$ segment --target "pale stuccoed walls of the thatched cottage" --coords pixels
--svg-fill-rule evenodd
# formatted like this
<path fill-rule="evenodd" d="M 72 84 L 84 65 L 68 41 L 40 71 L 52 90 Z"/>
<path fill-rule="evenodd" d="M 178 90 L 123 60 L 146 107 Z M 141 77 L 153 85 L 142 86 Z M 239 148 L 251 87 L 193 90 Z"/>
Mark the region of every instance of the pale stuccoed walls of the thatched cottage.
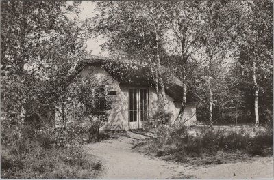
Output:
<path fill-rule="evenodd" d="M 113 108 L 109 110 L 108 122 L 101 127 L 103 130 L 129 130 L 129 86 L 119 85 L 117 80 L 110 77 L 110 74 L 99 67 L 86 67 L 82 72 L 83 76 L 96 76 L 98 80 L 110 78 L 109 91 L 116 91 L 112 95 Z M 180 104 L 174 103 L 173 98 L 166 95 L 168 104 L 165 106 L 166 112 L 171 112 L 171 122 L 175 121 L 179 114 Z M 153 117 L 157 110 L 157 93 L 155 88 L 149 87 L 149 117 Z M 185 125 L 195 125 L 196 122 L 195 104 L 187 104 L 183 119 L 189 119 Z M 57 112 L 55 115 L 56 122 L 60 121 L 62 115 Z M 71 119 L 72 120 L 72 119 Z"/>

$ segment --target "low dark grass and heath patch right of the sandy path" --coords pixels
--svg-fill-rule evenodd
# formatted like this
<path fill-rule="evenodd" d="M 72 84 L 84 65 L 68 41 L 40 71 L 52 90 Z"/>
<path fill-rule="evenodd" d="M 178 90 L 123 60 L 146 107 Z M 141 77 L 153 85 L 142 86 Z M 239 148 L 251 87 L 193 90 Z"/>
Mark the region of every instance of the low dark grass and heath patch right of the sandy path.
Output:
<path fill-rule="evenodd" d="M 192 136 L 186 127 L 165 129 L 157 138 L 140 142 L 134 149 L 173 162 L 224 164 L 273 155 L 273 130 L 258 131 L 255 136 L 244 131 L 225 133 L 218 130 Z"/>

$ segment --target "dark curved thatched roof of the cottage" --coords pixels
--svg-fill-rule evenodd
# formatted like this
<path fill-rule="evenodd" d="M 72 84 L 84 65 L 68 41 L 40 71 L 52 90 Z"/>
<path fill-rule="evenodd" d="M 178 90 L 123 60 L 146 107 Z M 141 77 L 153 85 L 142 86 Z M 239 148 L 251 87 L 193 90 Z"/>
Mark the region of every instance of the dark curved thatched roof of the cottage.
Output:
<path fill-rule="evenodd" d="M 115 80 L 122 85 L 149 86 L 155 87 L 155 82 L 148 65 L 132 63 L 131 61 L 115 61 L 105 57 L 92 56 L 77 64 L 77 72 L 88 66 L 103 68 Z M 175 102 L 182 102 L 183 82 L 175 76 L 164 78 L 166 94 L 173 98 Z M 194 102 L 192 95 L 187 94 L 187 101 Z"/>

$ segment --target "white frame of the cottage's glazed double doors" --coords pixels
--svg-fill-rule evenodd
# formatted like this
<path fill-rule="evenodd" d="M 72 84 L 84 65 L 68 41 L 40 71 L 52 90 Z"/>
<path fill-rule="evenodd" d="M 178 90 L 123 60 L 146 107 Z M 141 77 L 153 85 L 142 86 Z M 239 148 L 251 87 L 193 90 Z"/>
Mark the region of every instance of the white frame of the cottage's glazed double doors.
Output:
<path fill-rule="evenodd" d="M 137 123 L 138 123 L 138 129 L 142 128 L 142 121 L 140 121 L 140 89 L 146 89 L 147 90 L 147 117 L 149 116 L 149 87 L 144 87 L 144 86 L 131 86 L 128 88 L 128 94 L 129 94 L 129 89 L 137 89 L 137 97 L 136 97 L 136 103 L 137 103 Z M 130 127 L 130 102 L 129 102 L 129 95 L 128 95 L 128 125 L 129 125 L 129 130 L 134 129 Z"/>

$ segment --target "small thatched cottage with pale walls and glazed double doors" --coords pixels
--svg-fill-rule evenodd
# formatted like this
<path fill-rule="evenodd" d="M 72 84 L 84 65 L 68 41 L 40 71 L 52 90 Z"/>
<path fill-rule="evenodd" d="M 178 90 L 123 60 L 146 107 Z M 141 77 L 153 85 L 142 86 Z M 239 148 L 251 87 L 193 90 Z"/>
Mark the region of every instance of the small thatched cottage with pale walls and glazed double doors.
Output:
<path fill-rule="evenodd" d="M 92 56 L 80 61 L 76 67 L 82 76 L 96 76 L 98 80 L 110 78 L 108 95 L 112 96 L 112 109 L 108 110 L 108 121 L 103 130 L 131 130 L 142 128 L 147 118 L 157 112 L 158 96 L 151 71 L 147 65 L 113 61 L 103 57 Z M 170 112 L 171 122 L 179 115 L 182 100 L 182 82 L 175 76 L 164 78 L 166 105 L 164 110 Z M 195 125 L 196 104 L 187 94 L 182 121 L 185 125 Z M 61 115 L 56 112 L 58 121 Z"/>

